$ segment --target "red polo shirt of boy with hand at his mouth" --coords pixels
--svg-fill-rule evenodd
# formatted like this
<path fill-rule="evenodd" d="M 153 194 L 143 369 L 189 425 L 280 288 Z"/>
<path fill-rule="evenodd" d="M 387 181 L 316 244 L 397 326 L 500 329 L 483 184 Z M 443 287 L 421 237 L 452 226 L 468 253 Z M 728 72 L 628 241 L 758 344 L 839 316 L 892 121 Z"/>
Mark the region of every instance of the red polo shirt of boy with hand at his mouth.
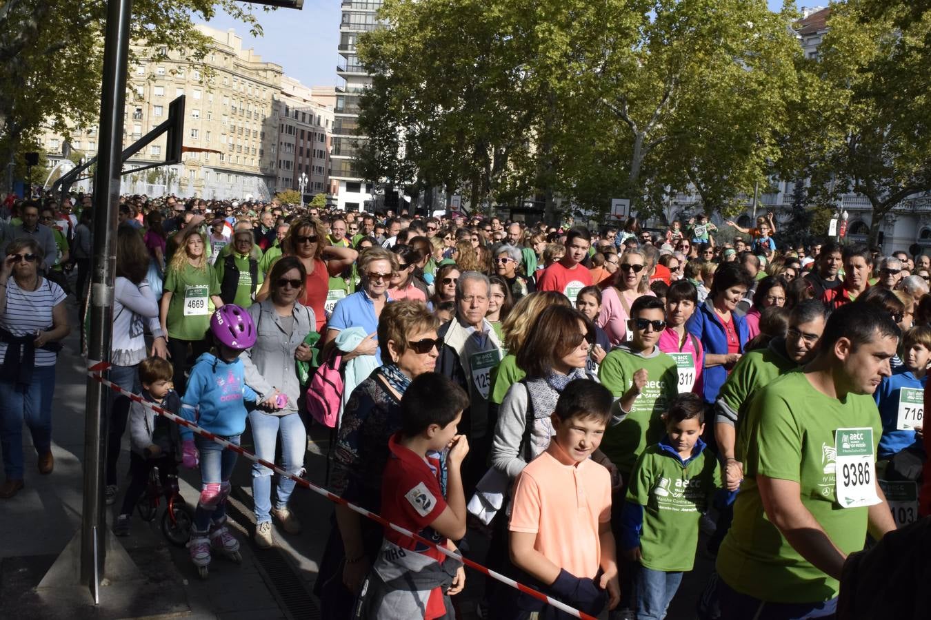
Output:
<path fill-rule="evenodd" d="M 439 459 L 421 458 L 398 443 L 400 437 L 401 434 L 397 433 L 388 440 L 388 462 L 382 479 L 382 517 L 439 546 L 445 546 L 446 537 L 430 527 L 430 523 L 446 509 L 446 498 L 439 485 Z M 446 558 L 435 547 L 428 547 L 391 528 L 385 528 L 385 539 L 439 562 Z M 424 617 L 429 620 L 445 613 L 443 593 L 437 587 L 430 593 Z"/>

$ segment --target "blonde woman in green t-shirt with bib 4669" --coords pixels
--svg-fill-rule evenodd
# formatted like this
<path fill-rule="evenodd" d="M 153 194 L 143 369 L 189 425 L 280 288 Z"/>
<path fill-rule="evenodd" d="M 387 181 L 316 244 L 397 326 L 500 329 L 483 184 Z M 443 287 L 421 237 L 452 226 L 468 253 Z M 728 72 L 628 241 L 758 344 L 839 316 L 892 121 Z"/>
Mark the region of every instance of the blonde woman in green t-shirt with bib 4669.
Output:
<path fill-rule="evenodd" d="M 210 326 L 210 314 L 223 307 L 217 272 L 207 262 L 207 239 L 190 227 L 181 233 L 178 249 L 171 255 L 165 270 L 159 323 L 168 340 L 168 350 L 174 365 L 174 388 L 184 393 L 185 373 L 190 370 L 187 350 L 193 359 L 206 353 L 210 346 L 204 337 Z"/>

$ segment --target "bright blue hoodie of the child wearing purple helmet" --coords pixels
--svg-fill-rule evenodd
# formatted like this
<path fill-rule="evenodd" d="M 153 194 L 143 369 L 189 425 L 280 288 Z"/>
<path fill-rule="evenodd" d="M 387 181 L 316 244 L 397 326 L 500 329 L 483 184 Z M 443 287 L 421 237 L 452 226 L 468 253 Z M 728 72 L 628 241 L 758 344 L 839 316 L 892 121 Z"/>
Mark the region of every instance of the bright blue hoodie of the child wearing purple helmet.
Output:
<path fill-rule="evenodd" d="M 212 353 L 197 358 L 182 398 L 181 416 L 214 435 L 233 437 L 246 429 L 246 405 L 258 401 L 255 390 L 246 385 L 245 370 L 236 358 L 223 362 Z M 198 415 L 191 407 L 198 407 Z M 181 429 L 182 441 L 193 439 L 194 431 Z"/>

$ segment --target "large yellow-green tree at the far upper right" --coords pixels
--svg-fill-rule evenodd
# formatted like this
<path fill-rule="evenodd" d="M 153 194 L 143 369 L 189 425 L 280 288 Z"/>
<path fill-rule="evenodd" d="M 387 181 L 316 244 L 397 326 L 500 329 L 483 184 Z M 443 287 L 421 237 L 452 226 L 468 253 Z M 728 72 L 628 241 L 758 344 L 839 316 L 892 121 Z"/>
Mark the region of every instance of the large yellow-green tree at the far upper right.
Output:
<path fill-rule="evenodd" d="M 797 167 L 818 204 L 857 192 L 872 207 L 870 243 L 884 216 L 911 194 L 931 191 L 931 112 L 926 104 L 931 13 L 864 0 L 832 5 L 818 58 L 806 60 L 796 127 Z M 908 86 L 906 86 L 908 85 Z M 917 89 L 916 89 L 917 88 Z M 918 90 L 921 90 L 919 93 Z"/>

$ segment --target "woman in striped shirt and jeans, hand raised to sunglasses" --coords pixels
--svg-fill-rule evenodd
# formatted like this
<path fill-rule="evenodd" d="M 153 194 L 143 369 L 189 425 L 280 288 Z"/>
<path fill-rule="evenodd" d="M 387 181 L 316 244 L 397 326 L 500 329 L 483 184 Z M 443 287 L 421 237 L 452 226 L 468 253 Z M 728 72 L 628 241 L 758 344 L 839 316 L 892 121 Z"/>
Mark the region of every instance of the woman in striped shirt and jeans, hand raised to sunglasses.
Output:
<path fill-rule="evenodd" d="M 65 294 L 58 284 L 39 275 L 45 255 L 33 239 L 7 245 L 0 266 L 0 445 L 7 481 L 0 498 L 23 487 L 22 423 L 33 434 L 39 473 L 54 468 L 52 457 L 52 395 L 60 340 L 71 328 Z M 10 277 L 12 276 L 12 277 Z"/>

